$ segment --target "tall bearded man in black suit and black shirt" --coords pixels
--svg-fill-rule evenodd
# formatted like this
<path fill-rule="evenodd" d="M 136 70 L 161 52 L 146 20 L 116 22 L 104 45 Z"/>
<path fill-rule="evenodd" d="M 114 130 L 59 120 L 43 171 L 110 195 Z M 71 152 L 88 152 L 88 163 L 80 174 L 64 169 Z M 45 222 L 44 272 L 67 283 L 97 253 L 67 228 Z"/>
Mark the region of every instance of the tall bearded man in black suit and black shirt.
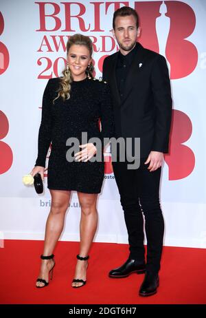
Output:
<path fill-rule="evenodd" d="M 140 34 L 137 12 L 122 7 L 113 16 L 113 35 L 119 52 L 104 59 L 103 79 L 113 98 L 115 137 L 140 138 L 140 165 L 128 169 L 128 161 L 113 162 L 115 180 L 128 231 L 130 255 L 109 273 L 127 277 L 146 273 L 139 295 L 157 293 L 163 246 L 164 222 L 159 203 L 159 181 L 163 153 L 168 153 L 172 98 L 165 58 L 146 50 Z M 144 220 L 147 259 L 144 250 Z"/>

